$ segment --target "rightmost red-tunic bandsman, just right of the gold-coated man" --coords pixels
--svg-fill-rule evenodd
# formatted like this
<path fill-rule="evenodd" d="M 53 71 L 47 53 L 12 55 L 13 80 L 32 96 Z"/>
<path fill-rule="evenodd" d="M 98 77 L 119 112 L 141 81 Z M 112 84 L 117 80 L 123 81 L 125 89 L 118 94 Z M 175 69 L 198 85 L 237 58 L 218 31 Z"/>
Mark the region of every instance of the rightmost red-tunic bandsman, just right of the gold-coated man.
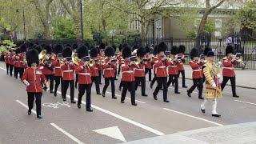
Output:
<path fill-rule="evenodd" d="M 230 80 L 233 97 L 238 98 L 239 96 L 237 95 L 235 90 L 235 73 L 234 73 L 234 66 L 236 66 L 238 62 L 233 53 L 234 53 L 233 46 L 231 45 L 226 46 L 226 57 L 223 58 L 223 61 L 222 61 L 223 81 L 221 86 L 223 90 L 224 87 L 226 86 L 226 82 Z"/>

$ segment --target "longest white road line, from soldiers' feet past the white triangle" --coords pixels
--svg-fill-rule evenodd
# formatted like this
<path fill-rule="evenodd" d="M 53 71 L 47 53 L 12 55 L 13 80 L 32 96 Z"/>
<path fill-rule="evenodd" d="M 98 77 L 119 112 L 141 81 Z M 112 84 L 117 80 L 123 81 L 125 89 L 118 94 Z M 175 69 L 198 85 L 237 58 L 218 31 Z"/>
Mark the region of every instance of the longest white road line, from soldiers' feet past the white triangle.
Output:
<path fill-rule="evenodd" d="M 58 94 L 62 94 L 60 91 L 57 92 Z M 66 97 L 70 98 L 70 95 L 66 94 Z M 78 98 L 74 98 L 75 100 L 78 100 Z M 86 105 L 86 102 L 82 101 L 82 104 Z M 106 114 L 110 114 L 111 116 L 115 117 L 115 118 L 118 118 L 118 119 L 121 119 L 122 121 L 125 121 L 125 122 L 128 122 L 130 124 L 133 124 L 134 126 L 138 126 L 144 130 L 148 130 L 150 131 L 151 133 L 154 133 L 154 134 L 157 134 L 157 135 L 164 135 L 164 133 L 162 133 L 161 131 L 158 131 L 158 130 L 154 130 L 153 128 L 149 127 L 149 126 L 145 126 L 139 122 L 135 122 L 129 118 L 125 118 L 125 117 L 122 117 L 121 115 L 118 115 L 118 114 L 115 114 L 109 110 L 104 110 L 102 109 L 101 107 L 98 107 L 98 106 L 95 106 L 95 105 L 91 105 L 94 109 L 96 110 L 99 110 L 99 111 L 102 111 L 103 113 L 106 113 Z"/>

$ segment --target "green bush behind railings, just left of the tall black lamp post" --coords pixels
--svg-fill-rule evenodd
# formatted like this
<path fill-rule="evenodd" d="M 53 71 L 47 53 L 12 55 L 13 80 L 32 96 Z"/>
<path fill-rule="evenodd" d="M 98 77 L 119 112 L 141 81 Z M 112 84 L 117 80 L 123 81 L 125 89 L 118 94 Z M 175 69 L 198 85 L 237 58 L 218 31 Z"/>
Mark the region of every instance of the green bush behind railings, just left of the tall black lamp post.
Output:
<path fill-rule="evenodd" d="M 54 23 L 54 39 L 74 39 L 76 30 L 74 21 L 66 18 L 59 18 Z"/>

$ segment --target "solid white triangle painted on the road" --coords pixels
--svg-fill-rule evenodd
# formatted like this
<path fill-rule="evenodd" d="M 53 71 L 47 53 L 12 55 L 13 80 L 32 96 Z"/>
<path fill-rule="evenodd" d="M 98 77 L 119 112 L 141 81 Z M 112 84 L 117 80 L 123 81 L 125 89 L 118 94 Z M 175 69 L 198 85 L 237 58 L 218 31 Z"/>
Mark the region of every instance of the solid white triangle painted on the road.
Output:
<path fill-rule="evenodd" d="M 122 132 L 119 130 L 118 126 L 113 126 L 113 127 L 108 127 L 108 128 L 98 129 L 93 131 L 98 134 L 103 134 L 111 138 L 118 139 L 122 142 L 126 142 L 126 138 L 122 135 Z"/>

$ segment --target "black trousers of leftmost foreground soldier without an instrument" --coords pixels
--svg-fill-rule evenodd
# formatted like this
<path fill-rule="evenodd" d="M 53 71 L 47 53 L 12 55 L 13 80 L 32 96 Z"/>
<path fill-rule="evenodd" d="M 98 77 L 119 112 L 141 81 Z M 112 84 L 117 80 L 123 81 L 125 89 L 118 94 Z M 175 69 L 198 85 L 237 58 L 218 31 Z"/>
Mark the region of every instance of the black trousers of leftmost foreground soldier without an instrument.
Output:
<path fill-rule="evenodd" d="M 34 106 L 34 98 L 35 98 L 35 103 L 37 106 L 37 115 L 41 115 L 41 98 L 42 98 L 42 93 L 30 93 L 27 92 L 27 99 L 28 99 L 28 106 L 29 110 L 33 109 Z"/>

